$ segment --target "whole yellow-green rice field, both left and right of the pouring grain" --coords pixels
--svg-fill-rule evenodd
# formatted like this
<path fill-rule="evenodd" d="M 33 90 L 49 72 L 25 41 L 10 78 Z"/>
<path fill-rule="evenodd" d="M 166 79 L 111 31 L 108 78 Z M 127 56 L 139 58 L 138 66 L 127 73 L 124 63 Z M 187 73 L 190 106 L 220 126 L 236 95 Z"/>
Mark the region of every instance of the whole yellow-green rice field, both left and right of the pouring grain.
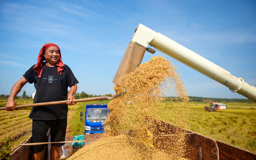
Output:
<path fill-rule="evenodd" d="M 1 101 L 0 105 L 2 104 L 2 106 L 7 103 L 7 100 Z M 16 102 L 19 105 L 30 104 L 32 100 L 18 99 Z M 108 100 L 90 103 L 108 103 Z M 66 136 L 84 134 L 84 122 L 80 121 L 79 113 L 85 110 L 85 104 L 83 102 L 69 106 L 68 126 L 70 126 L 70 132 Z M 188 121 L 190 126 L 187 129 L 256 153 L 256 103 L 224 104 L 227 105 L 227 110 L 209 112 L 204 110 L 205 106 L 209 106 L 208 103 L 191 103 L 191 113 L 189 113 L 191 120 Z M 164 109 L 166 108 L 171 109 L 168 103 L 164 106 Z M 32 127 L 32 120 L 28 118 L 29 113 L 30 110 L 0 111 L 0 140 L 4 137 L 8 137 L 12 141 L 18 140 L 13 143 L 12 148 L 14 148 L 23 139 L 27 139 L 31 135 L 29 132 Z M 28 135 L 26 135 L 27 132 Z M 21 139 L 18 139 L 20 137 Z"/>

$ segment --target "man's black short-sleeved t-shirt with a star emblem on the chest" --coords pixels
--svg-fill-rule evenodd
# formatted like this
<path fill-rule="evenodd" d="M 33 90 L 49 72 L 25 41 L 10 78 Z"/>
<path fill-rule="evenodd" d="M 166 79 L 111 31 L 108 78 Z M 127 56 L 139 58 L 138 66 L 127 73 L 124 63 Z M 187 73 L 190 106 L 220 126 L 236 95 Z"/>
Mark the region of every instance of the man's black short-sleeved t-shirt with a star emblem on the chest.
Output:
<path fill-rule="evenodd" d="M 35 65 L 29 68 L 23 75 L 29 83 L 34 83 L 36 94 L 33 103 L 53 102 L 68 99 L 68 87 L 79 83 L 71 69 L 65 65 L 59 75 L 57 67 L 43 65 L 41 77 L 33 70 Z M 29 114 L 30 119 L 54 120 L 67 118 L 68 105 L 47 105 L 33 107 Z"/>

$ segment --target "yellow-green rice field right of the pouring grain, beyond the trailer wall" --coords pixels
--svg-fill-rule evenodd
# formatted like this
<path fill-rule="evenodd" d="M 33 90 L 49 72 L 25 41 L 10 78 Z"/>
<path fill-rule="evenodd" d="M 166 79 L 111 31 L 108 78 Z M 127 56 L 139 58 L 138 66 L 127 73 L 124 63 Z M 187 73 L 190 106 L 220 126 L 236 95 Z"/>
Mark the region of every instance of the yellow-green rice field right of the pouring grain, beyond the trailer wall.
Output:
<path fill-rule="evenodd" d="M 189 129 L 256 153 L 256 104 L 224 104 L 227 105 L 227 110 L 214 112 L 204 110 L 207 104 L 191 104 L 189 115 L 192 119 L 189 121 Z"/>

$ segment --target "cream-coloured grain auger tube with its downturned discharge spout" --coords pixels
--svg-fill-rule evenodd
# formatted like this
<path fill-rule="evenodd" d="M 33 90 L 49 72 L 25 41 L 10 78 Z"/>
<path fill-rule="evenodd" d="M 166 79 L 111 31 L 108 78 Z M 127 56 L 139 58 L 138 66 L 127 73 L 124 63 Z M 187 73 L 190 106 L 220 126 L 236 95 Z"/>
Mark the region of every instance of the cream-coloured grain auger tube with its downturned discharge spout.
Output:
<path fill-rule="evenodd" d="M 218 65 L 142 24 L 139 24 L 135 29 L 132 41 L 129 43 L 115 73 L 113 83 L 122 85 L 118 79 L 123 74 L 134 71 L 140 65 L 145 51 L 154 52 L 154 49 L 147 48 L 148 45 L 204 74 L 210 79 L 223 84 L 231 92 L 237 92 L 256 102 L 256 88 L 254 86 L 249 85 L 242 78 L 231 75 L 230 72 Z"/>

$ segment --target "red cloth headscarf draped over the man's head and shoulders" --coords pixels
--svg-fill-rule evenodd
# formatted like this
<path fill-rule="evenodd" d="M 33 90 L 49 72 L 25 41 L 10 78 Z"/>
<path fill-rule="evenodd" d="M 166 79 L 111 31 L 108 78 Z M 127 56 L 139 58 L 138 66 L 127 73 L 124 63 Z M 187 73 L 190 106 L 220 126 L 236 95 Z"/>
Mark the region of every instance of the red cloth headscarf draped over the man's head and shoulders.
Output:
<path fill-rule="evenodd" d="M 43 45 L 43 47 L 40 49 L 38 59 L 37 59 L 37 63 L 35 65 L 35 67 L 33 68 L 33 70 L 37 72 L 37 76 L 39 78 L 41 77 L 41 74 L 42 74 L 42 71 L 43 71 L 43 61 L 45 60 L 45 57 L 43 56 L 42 52 L 45 51 L 46 49 L 52 47 L 52 46 L 57 47 L 59 49 L 59 54 L 60 54 L 60 48 L 56 44 L 47 43 L 47 44 Z M 58 67 L 57 69 L 58 69 L 59 74 L 61 74 L 61 71 L 64 69 L 63 66 L 64 66 L 64 64 L 62 62 L 62 57 L 61 57 L 61 54 L 60 54 L 60 59 L 56 63 L 56 67 Z"/>

